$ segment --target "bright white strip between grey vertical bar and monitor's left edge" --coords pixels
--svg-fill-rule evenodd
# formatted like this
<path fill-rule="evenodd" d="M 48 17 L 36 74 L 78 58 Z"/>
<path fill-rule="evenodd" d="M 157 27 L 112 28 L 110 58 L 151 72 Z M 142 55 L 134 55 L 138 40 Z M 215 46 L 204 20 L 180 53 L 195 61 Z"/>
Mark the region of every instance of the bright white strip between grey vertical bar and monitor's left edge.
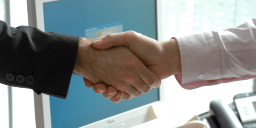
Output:
<path fill-rule="evenodd" d="M 27 1 L 10 0 L 11 26 L 28 25 Z M 35 128 L 33 90 L 13 87 L 13 128 Z"/>

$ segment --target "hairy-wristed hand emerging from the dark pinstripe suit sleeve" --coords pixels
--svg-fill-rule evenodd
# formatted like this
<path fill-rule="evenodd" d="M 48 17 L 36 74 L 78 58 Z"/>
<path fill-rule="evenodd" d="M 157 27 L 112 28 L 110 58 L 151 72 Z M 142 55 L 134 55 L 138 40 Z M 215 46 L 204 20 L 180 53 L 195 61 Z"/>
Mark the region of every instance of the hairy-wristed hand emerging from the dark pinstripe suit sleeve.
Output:
<path fill-rule="evenodd" d="M 93 86 L 94 90 L 97 90 L 97 86 L 102 87 L 100 83 L 111 85 L 123 92 L 121 94 L 114 90 L 114 97 L 119 95 L 119 98 L 127 100 L 150 91 L 152 87 L 160 86 L 161 80 L 127 47 L 96 50 L 90 46 L 93 40 L 95 39 L 80 38 L 74 72 L 81 74 L 85 83 L 88 82 L 86 80 L 99 83 Z M 112 91 L 113 88 L 107 89 Z"/>

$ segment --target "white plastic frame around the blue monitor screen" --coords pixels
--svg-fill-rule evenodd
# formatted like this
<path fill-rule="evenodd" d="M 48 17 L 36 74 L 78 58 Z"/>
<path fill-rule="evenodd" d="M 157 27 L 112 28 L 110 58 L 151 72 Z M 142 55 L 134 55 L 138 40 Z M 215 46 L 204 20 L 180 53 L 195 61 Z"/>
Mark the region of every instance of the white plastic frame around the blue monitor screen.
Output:
<path fill-rule="evenodd" d="M 28 7 L 28 21 L 29 26 L 36 27 L 41 31 L 45 31 L 44 27 L 44 14 L 43 14 L 43 3 L 52 2 L 58 0 L 27 0 Z M 163 41 L 162 32 L 162 0 L 156 0 L 156 21 L 157 21 L 157 39 Z M 52 128 L 51 125 L 51 111 L 50 111 L 50 98 L 49 95 L 34 93 L 35 102 L 35 116 L 36 116 L 36 127 L 37 128 Z M 164 102 L 164 81 L 162 80 L 161 86 L 159 87 L 159 101 L 108 117 L 106 119 L 82 126 L 80 128 L 104 128 L 107 120 L 114 119 L 115 122 L 127 120 L 131 117 L 138 117 L 137 124 L 145 122 L 147 111 L 152 105 L 161 106 Z M 155 108 L 154 108 L 155 109 Z M 156 108 L 157 109 L 157 108 Z M 133 122 L 136 124 L 136 122 Z M 136 125 L 137 125 L 136 124 Z M 112 125 L 112 124 L 111 124 Z M 110 127 L 110 126 L 107 126 Z"/>

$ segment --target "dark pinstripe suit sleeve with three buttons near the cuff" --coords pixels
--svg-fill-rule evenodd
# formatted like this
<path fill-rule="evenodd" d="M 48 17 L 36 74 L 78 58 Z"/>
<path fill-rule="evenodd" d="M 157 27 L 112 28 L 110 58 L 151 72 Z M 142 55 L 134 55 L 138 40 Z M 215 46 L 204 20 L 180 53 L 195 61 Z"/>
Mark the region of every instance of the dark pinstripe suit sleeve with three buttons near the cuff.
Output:
<path fill-rule="evenodd" d="M 42 32 L 29 26 L 13 28 L 0 21 L 0 82 L 65 99 L 78 44 L 77 36 Z M 7 73 L 14 77 L 31 75 L 34 83 L 8 81 Z"/>

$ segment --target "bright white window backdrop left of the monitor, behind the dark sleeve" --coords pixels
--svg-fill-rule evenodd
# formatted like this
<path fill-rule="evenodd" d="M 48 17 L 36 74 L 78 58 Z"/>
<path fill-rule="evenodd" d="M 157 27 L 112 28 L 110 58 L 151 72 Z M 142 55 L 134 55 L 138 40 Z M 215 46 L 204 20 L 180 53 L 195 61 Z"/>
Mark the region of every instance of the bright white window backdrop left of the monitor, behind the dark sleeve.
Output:
<path fill-rule="evenodd" d="M 0 20 L 6 22 L 5 0 L 0 0 Z M 26 0 L 10 0 L 10 26 L 28 25 Z M 1 43 L 1 42 L 0 42 Z M 9 128 L 8 86 L 0 84 L 0 128 Z M 33 90 L 12 87 L 12 128 L 35 128 Z"/>

